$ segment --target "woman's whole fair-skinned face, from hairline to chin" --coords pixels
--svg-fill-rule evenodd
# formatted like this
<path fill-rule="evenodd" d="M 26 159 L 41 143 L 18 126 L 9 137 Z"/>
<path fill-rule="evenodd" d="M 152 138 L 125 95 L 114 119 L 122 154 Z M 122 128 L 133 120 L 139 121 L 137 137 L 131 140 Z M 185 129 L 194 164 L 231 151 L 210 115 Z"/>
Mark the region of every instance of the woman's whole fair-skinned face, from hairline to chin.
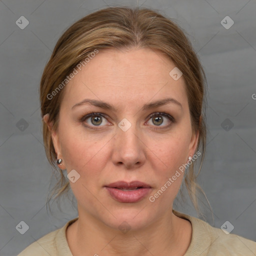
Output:
<path fill-rule="evenodd" d="M 183 77 L 174 80 L 169 74 L 174 67 L 150 49 L 99 50 L 65 86 L 52 138 L 63 159 L 60 167 L 72 170 L 69 183 L 80 217 L 114 228 L 126 221 L 136 229 L 171 212 L 183 173 L 171 185 L 166 182 L 194 154 L 198 139 L 191 130 Z M 172 100 L 152 104 L 166 98 Z M 76 105 L 84 99 L 100 104 Z M 86 117 L 90 112 L 95 114 Z M 106 188 L 134 180 L 150 188 Z M 154 197 L 159 189 L 162 193 Z"/>

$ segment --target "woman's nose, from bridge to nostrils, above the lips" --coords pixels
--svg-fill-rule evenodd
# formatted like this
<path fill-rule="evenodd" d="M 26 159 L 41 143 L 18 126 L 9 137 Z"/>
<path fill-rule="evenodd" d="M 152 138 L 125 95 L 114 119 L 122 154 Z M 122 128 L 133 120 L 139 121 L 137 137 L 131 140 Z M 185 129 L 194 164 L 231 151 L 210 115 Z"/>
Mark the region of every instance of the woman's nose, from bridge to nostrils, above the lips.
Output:
<path fill-rule="evenodd" d="M 145 162 L 145 144 L 141 134 L 131 125 L 126 131 L 117 127 L 113 137 L 112 161 L 127 169 L 135 169 Z"/>

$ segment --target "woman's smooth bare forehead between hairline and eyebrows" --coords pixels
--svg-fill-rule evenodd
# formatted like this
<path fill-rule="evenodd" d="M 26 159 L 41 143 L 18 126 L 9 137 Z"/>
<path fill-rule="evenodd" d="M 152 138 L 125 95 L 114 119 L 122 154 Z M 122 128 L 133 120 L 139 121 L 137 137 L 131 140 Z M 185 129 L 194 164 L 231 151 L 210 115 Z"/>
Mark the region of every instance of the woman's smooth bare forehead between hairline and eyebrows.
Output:
<path fill-rule="evenodd" d="M 99 50 L 65 86 L 63 101 L 70 107 L 84 98 L 137 105 L 170 96 L 185 104 L 183 77 L 169 75 L 174 67 L 160 51 Z"/>

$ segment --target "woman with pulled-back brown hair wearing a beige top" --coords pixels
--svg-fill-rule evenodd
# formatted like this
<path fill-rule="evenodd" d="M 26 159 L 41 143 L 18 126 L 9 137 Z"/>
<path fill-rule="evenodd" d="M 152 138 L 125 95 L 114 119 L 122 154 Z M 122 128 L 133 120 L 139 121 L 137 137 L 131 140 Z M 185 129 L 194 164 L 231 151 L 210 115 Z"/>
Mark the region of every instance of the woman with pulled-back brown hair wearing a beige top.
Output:
<path fill-rule="evenodd" d="M 256 242 L 172 208 L 184 178 L 198 209 L 204 80 L 184 33 L 152 10 L 109 7 L 69 27 L 40 103 L 47 158 L 68 173 L 57 195 L 70 185 L 78 216 L 19 256 L 255 255 Z"/>

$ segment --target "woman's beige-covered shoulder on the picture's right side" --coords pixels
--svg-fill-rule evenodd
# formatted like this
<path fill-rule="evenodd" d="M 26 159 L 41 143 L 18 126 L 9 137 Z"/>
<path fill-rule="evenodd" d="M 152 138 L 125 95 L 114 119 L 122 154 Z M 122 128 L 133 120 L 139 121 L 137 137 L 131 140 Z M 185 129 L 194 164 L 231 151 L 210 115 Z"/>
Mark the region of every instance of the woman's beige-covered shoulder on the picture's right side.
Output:
<path fill-rule="evenodd" d="M 190 245 L 184 256 L 221 256 L 221 255 L 256 255 L 256 242 L 242 236 L 228 233 L 213 227 L 207 222 L 173 210 L 179 217 L 188 219 L 192 225 Z"/>

